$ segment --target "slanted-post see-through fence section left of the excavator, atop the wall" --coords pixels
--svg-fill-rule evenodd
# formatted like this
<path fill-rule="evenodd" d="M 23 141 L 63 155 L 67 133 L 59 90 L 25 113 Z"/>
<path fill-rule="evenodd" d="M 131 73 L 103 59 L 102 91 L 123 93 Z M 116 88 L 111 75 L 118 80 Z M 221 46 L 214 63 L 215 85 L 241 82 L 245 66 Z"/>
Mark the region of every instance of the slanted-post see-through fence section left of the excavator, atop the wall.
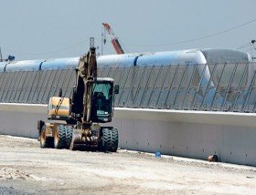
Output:
<path fill-rule="evenodd" d="M 71 97 L 76 80 L 74 69 L 0 73 L 0 102 L 48 104 L 49 97 Z"/>

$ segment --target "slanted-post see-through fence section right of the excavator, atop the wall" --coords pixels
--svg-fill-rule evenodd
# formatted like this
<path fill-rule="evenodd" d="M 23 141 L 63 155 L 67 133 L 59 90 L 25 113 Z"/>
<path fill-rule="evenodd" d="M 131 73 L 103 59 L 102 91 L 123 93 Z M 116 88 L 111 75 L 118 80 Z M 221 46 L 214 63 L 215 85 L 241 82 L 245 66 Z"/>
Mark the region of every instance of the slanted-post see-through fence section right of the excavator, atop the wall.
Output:
<path fill-rule="evenodd" d="M 120 86 L 115 107 L 255 112 L 256 64 L 104 67 Z"/>

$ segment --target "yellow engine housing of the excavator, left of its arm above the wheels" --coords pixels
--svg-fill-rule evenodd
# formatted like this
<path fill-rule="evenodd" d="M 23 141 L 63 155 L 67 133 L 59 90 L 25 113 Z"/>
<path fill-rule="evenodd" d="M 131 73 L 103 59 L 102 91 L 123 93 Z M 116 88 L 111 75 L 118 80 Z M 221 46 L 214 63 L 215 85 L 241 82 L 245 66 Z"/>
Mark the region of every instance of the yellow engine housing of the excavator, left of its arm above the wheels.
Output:
<path fill-rule="evenodd" d="M 68 97 L 50 97 L 48 101 L 48 119 L 66 120 L 70 116 Z"/>

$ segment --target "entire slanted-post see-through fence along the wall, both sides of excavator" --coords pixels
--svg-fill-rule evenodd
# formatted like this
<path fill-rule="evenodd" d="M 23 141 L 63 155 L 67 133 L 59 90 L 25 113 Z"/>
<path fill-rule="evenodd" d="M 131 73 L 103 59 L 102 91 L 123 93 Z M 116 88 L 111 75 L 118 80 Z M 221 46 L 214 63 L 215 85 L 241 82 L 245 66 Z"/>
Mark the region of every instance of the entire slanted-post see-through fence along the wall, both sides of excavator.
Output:
<path fill-rule="evenodd" d="M 99 77 L 120 86 L 114 105 L 155 108 L 255 112 L 256 64 L 207 64 L 103 67 Z M 0 72 L 0 102 L 47 104 L 49 97 L 71 97 L 74 69 Z"/>

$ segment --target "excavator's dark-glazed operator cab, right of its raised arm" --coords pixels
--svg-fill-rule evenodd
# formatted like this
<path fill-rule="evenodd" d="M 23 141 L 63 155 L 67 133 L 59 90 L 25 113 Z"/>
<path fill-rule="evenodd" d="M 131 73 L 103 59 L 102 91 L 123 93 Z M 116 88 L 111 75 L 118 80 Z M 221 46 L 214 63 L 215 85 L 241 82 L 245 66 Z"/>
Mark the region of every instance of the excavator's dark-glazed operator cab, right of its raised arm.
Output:
<path fill-rule="evenodd" d="M 92 122 L 112 121 L 114 92 L 116 90 L 114 90 L 112 78 L 97 78 L 97 81 L 92 84 Z"/>

